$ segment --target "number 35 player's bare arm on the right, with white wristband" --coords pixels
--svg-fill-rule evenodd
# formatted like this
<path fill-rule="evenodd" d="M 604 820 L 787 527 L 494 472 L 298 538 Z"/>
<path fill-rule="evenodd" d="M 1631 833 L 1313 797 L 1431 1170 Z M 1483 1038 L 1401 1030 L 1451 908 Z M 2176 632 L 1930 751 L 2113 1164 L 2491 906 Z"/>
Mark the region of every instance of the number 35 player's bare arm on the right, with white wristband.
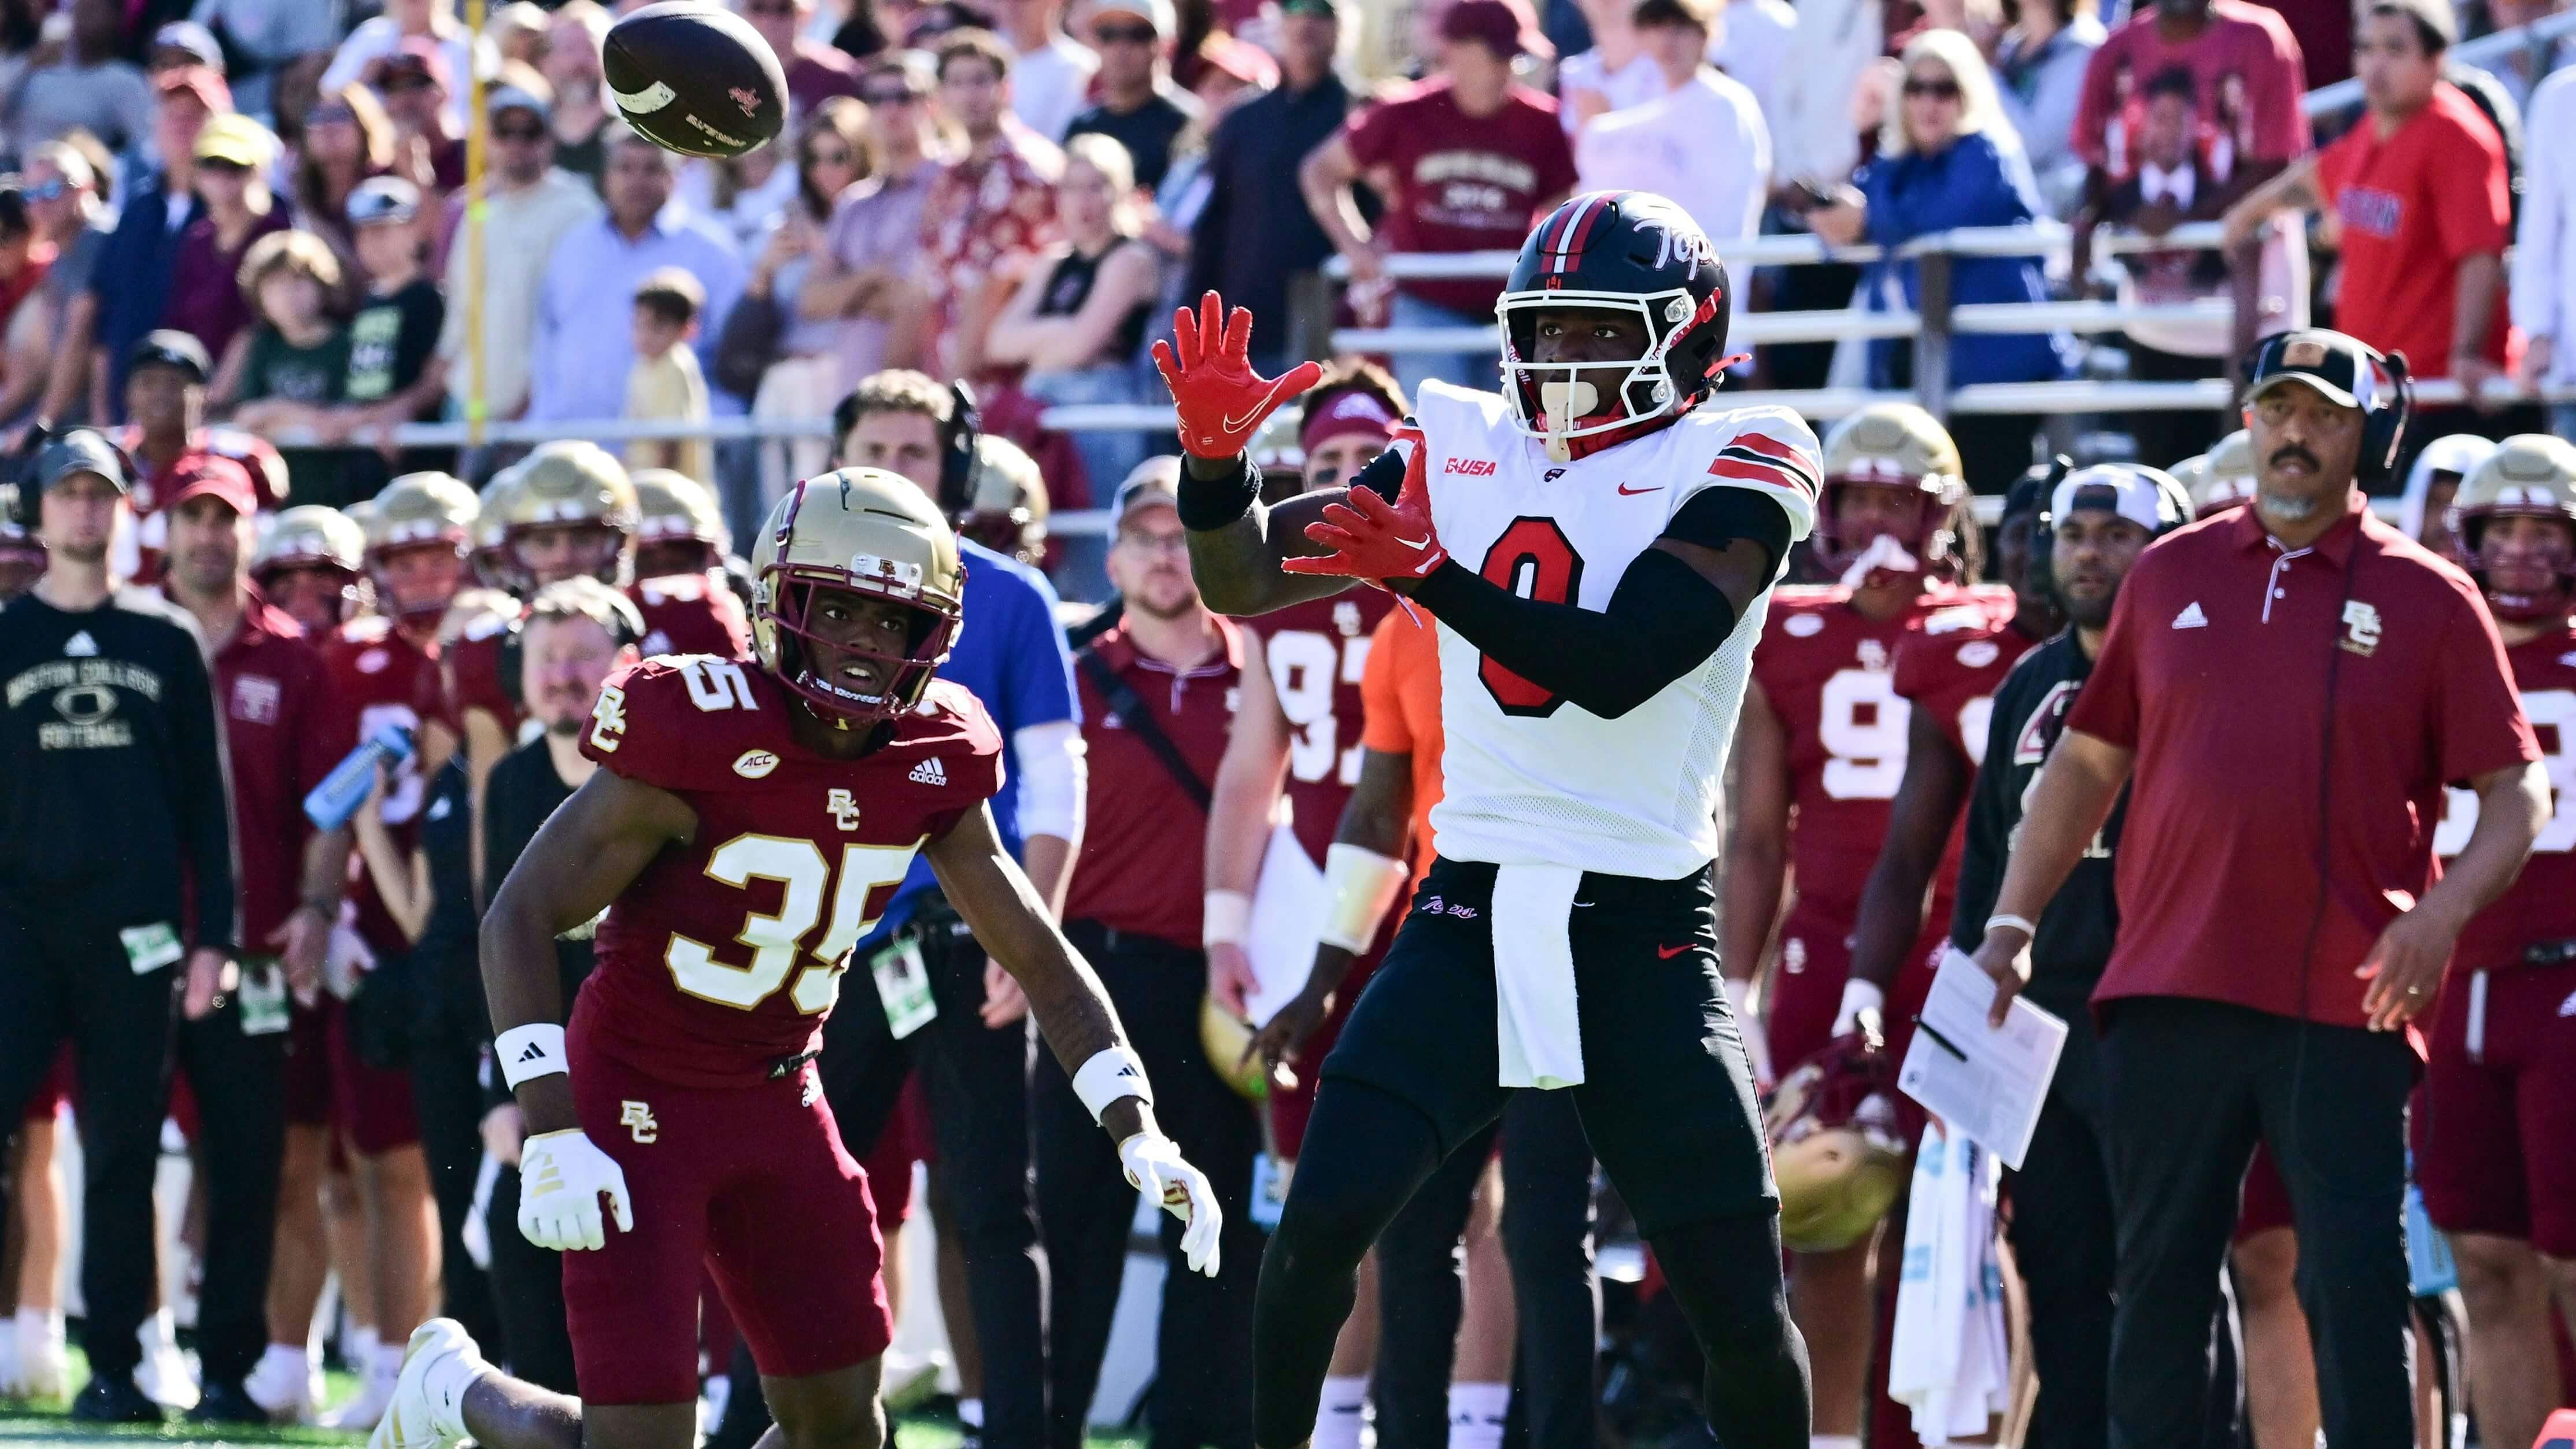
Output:
<path fill-rule="evenodd" d="M 1118 1027 L 1118 1009 L 1110 1006 L 1108 991 L 1100 988 L 1100 978 L 1092 975 L 1090 963 L 1056 929 L 1046 903 L 1038 901 L 1036 885 L 1028 883 L 1020 865 L 1002 849 L 1002 839 L 992 826 L 992 811 L 979 808 L 969 813 L 956 829 L 935 839 L 925 854 L 930 857 L 933 875 L 940 880 L 940 891 L 948 893 L 948 903 L 956 906 L 958 916 L 974 929 L 974 937 L 984 942 L 984 950 L 1028 993 L 1028 1009 L 1038 1019 L 1038 1032 L 1056 1053 L 1056 1060 L 1064 1063 L 1066 1076 L 1079 1071 L 1092 1055 L 1123 1045 L 1126 1032 Z M 1100 1114 L 1100 1125 L 1113 1140 L 1157 1132 L 1154 1109 L 1136 1096 L 1110 1102 L 1108 1112 Z"/>

